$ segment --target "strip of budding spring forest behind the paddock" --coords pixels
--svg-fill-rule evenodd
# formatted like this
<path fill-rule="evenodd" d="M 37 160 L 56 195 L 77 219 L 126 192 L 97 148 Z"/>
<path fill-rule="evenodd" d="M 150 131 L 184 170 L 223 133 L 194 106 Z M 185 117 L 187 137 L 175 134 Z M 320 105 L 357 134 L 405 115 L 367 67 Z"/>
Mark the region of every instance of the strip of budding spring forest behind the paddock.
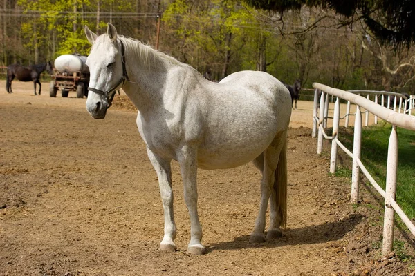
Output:
<path fill-rule="evenodd" d="M 1 1 L 1 0 L 0 0 Z M 344 90 L 415 94 L 415 48 L 380 43 L 364 23 L 330 10 L 279 13 L 237 0 L 3 0 L 0 66 L 88 55 L 84 25 L 113 23 L 211 79 L 262 70 L 286 83 L 315 81 Z M 158 24 L 160 32 L 158 35 Z"/>

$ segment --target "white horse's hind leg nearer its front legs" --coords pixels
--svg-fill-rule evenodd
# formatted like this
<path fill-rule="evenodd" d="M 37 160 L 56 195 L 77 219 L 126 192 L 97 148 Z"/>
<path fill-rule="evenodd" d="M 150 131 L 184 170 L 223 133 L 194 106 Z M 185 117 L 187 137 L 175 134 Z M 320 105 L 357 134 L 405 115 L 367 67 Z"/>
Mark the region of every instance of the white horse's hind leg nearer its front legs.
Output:
<path fill-rule="evenodd" d="M 277 169 L 279 162 L 279 154 L 282 152 L 284 141 L 282 137 L 286 135 L 286 132 L 279 133 L 276 135 L 273 142 L 264 150 L 262 155 L 255 159 L 254 164 L 262 171 L 261 179 L 261 202 L 259 204 L 259 213 L 255 220 L 255 228 L 250 235 L 250 242 L 264 242 L 264 230 L 265 230 L 265 217 L 266 209 L 268 208 L 268 200 L 273 196 L 273 186 L 275 185 L 275 170 Z M 262 161 L 261 161 L 261 157 Z M 275 199 L 272 197 L 271 199 Z M 275 209 L 275 204 L 273 205 Z M 273 208 L 271 208 L 273 212 Z M 271 226 L 270 230 L 274 230 L 274 226 L 277 224 L 278 217 L 276 213 L 271 215 Z M 276 230 L 276 229 L 275 229 Z"/>

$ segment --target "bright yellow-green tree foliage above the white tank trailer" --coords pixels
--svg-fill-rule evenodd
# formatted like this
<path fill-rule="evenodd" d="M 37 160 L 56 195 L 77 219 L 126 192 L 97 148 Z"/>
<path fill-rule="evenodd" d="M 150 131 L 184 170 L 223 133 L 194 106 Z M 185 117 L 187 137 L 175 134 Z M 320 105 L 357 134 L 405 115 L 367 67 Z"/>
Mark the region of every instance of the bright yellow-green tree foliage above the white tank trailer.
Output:
<path fill-rule="evenodd" d="M 132 8 L 131 1 L 127 0 L 100 1 L 103 10 L 112 7 L 116 11 L 129 11 Z M 91 46 L 86 41 L 83 28 L 85 24 L 95 26 L 96 23 L 93 17 L 88 14 L 85 16 L 82 10 L 89 10 L 89 6 L 95 7 L 96 1 L 19 0 L 17 4 L 24 10 L 24 14 L 30 15 L 24 17 L 20 28 L 24 47 L 28 49 L 30 56 L 33 56 L 35 48 L 44 60 L 74 52 L 88 54 Z M 73 13 L 74 4 L 80 11 L 77 14 Z M 34 12 L 37 15 L 33 15 Z M 100 27 L 107 28 L 107 23 L 100 22 Z"/>

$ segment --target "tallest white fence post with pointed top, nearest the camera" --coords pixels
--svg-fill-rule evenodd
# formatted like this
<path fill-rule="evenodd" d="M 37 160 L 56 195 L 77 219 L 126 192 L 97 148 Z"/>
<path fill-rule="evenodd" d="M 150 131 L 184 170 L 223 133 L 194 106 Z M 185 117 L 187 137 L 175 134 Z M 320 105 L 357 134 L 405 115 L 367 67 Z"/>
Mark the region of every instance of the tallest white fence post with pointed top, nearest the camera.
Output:
<path fill-rule="evenodd" d="M 386 188 L 385 188 L 385 220 L 383 221 L 382 255 L 387 255 L 394 249 L 394 208 L 389 204 L 389 198 L 396 197 L 396 170 L 398 167 L 398 134 L 396 126 L 392 126 L 387 150 Z"/>

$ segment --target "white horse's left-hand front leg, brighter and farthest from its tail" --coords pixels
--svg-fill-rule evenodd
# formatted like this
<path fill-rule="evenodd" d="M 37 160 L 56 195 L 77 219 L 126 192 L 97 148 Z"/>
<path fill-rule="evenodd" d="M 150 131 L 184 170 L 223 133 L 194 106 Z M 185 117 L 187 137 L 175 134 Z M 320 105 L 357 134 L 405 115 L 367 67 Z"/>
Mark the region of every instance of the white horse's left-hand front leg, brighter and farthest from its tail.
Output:
<path fill-rule="evenodd" d="M 174 252 L 176 251 L 177 246 L 174 244 L 174 239 L 176 239 L 176 224 L 174 224 L 172 170 L 170 168 L 170 160 L 161 159 L 154 155 L 154 152 L 149 150 L 149 148 L 147 148 L 147 155 L 157 173 L 165 216 L 164 237 L 160 243 L 159 250 Z"/>

